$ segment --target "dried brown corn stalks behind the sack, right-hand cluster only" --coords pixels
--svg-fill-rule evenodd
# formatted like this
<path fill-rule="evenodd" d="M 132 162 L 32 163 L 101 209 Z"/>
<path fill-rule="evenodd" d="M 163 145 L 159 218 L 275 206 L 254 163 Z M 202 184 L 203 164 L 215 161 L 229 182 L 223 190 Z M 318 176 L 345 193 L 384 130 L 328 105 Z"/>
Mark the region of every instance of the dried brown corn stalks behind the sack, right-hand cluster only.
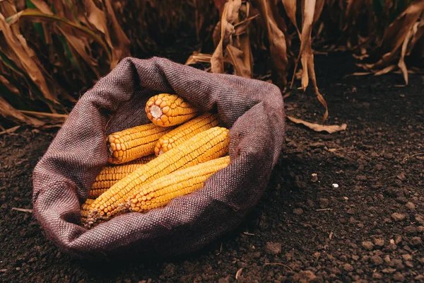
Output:
<path fill-rule="evenodd" d="M 296 74 L 303 91 L 312 84 L 325 108 L 323 122 L 328 109 L 315 77 L 314 41 L 325 51 L 352 50 L 361 60 L 358 66 L 365 69 L 356 75 L 399 68 L 406 84 L 405 57 L 423 57 L 422 0 L 215 0 L 215 4 L 220 11 L 213 33 L 216 49 L 212 54 L 194 52 L 186 64 L 206 62 L 214 73 L 251 77 L 252 50 L 265 49 L 278 86 L 293 87 Z M 300 41 L 296 51 L 291 50 L 292 40 Z"/>

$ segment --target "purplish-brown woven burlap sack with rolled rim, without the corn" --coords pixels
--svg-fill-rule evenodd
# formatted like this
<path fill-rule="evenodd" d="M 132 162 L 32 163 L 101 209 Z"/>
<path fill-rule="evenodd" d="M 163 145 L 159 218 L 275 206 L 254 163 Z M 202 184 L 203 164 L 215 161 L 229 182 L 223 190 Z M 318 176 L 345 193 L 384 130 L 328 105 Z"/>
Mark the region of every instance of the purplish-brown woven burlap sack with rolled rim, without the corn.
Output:
<path fill-rule="evenodd" d="M 163 209 L 84 229 L 80 205 L 107 163 L 107 134 L 148 122 L 144 105 L 157 93 L 177 93 L 201 110 L 217 110 L 230 128 L 230 166 Z M 80 258 L 199 249 L 234 229 L 258 202 L 284 131 L 283 99 L 271 83 L 208 74 L 158 57 L 123 59 L 81 96 L 35 167 L 34 215 L 59 249 Z"/>

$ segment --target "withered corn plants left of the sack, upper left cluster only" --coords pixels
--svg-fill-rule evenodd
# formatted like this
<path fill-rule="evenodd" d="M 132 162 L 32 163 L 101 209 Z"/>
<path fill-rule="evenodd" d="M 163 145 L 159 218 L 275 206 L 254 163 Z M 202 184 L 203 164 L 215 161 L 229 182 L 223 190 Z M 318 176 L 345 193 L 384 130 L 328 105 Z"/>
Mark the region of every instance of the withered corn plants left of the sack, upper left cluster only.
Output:
<path fill-rule="evenodd" d="M 193 4 L 0 1 L 0 115 L 35 127 L 63 122 L 80 91 L 119 60 L 146 56 L 175 34 L 181 12 L 194 11 L 187 6 Z"/>

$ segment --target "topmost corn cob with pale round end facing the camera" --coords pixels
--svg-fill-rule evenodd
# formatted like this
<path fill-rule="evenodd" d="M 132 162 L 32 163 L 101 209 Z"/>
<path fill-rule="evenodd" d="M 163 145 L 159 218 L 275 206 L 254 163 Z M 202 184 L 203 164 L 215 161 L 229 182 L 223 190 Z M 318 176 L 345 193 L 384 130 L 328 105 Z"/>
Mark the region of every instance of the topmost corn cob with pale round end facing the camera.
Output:
<path fill-rule="evenodd" d="M 147 101 L 146 114 L 153 124 L 169 127 L 187 122 L 199 110 L 175 94 L 160 93 Z"/>

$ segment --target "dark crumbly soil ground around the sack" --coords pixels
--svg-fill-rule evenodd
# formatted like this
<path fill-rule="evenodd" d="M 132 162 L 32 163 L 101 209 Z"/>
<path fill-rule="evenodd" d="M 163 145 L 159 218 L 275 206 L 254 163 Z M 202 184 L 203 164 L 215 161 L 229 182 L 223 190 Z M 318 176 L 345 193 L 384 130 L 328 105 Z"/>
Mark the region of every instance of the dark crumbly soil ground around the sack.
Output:
<path fill-rule="evenodd" d="M 1 282 L 424 282 L 424 81 L 348 76 L 349 54 L 316 59 L 329 124 L 288 123 L 269 186 L 252 214 L 199 252 L 151 260 L 74 260 L 32 214 L 31 173 L 55 132 L 0 137 Z M 312 94 L 286 99 L 290 115 L 318 121 Z M 317 174 L 316 178 L 312 174 Z M 338 187 L 332 187 L 332 184 Z M 237 278 L 237 279 L 236 279 Z"/>

